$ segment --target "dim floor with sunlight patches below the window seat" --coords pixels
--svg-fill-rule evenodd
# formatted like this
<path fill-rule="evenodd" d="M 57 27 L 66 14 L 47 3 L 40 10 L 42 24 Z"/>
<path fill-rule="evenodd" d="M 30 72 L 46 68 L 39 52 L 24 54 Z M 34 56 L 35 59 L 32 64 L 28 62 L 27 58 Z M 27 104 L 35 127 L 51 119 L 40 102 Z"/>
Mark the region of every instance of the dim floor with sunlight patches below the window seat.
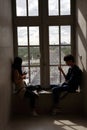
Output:
<path fill-rule="evenodd" d="M 87 119 L 76 115 L 15 116 L 6 130 L 87 130 Z"/>

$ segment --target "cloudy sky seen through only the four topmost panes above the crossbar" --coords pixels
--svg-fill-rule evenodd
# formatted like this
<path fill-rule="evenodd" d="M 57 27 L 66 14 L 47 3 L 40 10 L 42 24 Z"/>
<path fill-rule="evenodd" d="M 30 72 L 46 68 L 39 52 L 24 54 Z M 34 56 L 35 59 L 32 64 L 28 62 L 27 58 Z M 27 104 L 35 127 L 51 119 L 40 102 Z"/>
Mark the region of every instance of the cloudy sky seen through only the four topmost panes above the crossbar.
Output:
<path fill-rule="evenodd" d="M 30 15 L 38 15 L 38 0 L 28 0 Z M 17 15 L 26 16 L 26 0 L 16 0 Z M 48 0 L 48 11 L 50 15 L 59 14 L 58 0 Z M 70 0 L 60 0 L 61 15 L 70 14 Z"/>

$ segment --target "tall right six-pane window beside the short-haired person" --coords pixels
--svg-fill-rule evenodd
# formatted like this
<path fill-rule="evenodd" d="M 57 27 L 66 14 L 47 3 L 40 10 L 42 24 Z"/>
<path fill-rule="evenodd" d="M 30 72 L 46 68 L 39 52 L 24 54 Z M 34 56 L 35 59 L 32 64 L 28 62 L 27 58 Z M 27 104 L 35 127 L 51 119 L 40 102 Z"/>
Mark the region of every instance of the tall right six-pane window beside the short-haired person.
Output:
<path fill-rule="evenodd" d="M 65 65 L 63 57 L 71 53 L 70 26 L 49 26 L 49 60 L 50 83 L 55 84 L 64 80 L 58 72 L 58 65 Z M 66 70 L 66 68 L 64 69 Z M 59 77 L 59 78 L 58 78 Z"/>

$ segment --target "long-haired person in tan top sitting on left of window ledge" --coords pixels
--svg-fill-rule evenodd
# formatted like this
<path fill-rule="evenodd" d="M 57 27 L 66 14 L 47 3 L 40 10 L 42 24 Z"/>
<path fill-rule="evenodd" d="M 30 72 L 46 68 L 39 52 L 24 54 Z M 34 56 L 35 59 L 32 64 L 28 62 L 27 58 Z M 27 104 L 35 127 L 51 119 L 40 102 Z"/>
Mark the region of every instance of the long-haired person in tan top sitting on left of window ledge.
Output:
<path fill-rule="evenodd" d="M 37 113 L 35 110 L 35 101 L 38 95 L 26 86 L 24 82 L 24 79 L 26 78 L 26 73 L 22 73 L 21 66 L 22 59 L 20 57 L 16 57 L 12 65 L 13 82 L 15 83 L 16 93 L 21 97 L 29 98 L 32 114 L 36 116 Z"/>

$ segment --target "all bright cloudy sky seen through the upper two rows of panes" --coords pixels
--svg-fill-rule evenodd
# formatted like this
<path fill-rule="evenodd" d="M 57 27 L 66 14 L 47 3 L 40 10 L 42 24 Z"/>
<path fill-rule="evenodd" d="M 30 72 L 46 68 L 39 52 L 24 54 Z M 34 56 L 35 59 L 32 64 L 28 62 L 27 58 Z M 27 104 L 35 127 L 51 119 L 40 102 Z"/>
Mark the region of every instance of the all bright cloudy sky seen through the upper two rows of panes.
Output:
<path fill-rule="evenodd" d="M 29 16 L 38 16 L 38 0 L 28 0 L 29 4 Z M 26 0 L 16 0 L 17 4 L 17 16 L 26 16 Z M 58 0 L 48 0 L 48 12 L 49 15 L 58 15 Z M 60 14 L 70 14 L 70 0 L 60 1 Z M 33 27 L 29 29 L 29 37 L 31 44 L 39 44 L 39 27 Z M 50 44 L 59 44 L 59 27 L 49 27 L 49 42 Z M 61 27 L 61 43 L 67 42 L 70 44 L 70 26 Z M 27 28 L 18 28 L 18 43 L 20 45 L 27 45 Z"/>

